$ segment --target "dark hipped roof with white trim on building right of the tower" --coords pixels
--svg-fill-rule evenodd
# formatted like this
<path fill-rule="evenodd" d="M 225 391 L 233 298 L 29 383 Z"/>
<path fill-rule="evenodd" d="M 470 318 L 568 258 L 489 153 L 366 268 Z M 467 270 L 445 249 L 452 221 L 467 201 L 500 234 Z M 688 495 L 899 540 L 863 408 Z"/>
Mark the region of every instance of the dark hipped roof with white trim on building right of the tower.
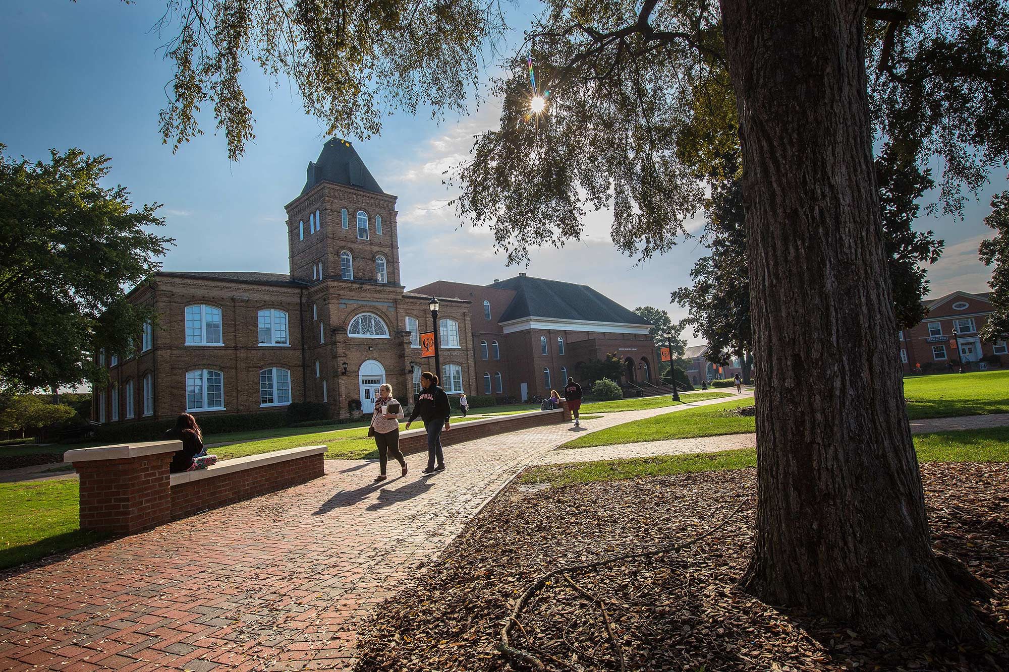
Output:
<path fill-rule="evenodd" d="M 652 326 L 651 322 L 634 311 L 629 311 L 585 285 L 517 275 L 487 287 L 516 292 L 498 322 L 543 317 Z"/>

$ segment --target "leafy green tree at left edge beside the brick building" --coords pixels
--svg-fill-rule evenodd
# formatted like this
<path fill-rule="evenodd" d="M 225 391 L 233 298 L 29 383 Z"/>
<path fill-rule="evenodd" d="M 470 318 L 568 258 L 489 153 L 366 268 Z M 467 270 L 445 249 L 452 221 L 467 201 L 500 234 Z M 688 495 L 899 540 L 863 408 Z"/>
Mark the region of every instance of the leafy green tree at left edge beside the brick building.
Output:
<path fill-rule="evenodd" d="M 160 267 L 170 238 L 146 227 L 158 205 L 134 210 L 121 186 L 104 189 L 106 156 L 51 151 L 48 162 L 0 144 L 0 389 L 55 390 L 108 373 L 94 353 L 127 355 L 155 316 L 123 286 Z"/>

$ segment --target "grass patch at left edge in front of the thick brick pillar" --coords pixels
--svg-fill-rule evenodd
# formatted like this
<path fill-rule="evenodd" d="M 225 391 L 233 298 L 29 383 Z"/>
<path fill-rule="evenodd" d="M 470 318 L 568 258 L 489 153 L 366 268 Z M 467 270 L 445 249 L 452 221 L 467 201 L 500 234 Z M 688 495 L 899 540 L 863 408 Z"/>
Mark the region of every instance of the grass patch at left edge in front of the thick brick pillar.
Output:
<path fill-rule="evenodd" d="M 79 525 L 76 479 L 0 483 L 0 569 L 104 539 Z"/>

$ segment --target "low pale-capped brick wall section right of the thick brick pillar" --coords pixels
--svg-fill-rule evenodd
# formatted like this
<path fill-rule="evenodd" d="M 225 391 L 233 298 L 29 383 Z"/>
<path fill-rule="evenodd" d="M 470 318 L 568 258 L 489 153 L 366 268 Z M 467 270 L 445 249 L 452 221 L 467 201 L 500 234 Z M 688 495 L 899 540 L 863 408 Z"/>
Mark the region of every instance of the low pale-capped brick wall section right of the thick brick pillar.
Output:
<path fill-rule="evenodd" d="M 325 475 L 325 446 L 292 448 L 172 474 L 172 520 L 248 499 Z"/>

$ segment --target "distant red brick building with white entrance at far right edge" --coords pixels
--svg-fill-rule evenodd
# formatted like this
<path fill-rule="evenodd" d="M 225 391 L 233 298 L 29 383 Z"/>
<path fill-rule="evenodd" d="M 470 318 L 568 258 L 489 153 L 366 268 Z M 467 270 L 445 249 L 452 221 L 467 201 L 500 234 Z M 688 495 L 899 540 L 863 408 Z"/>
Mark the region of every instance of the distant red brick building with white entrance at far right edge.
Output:
<path fill-rule="evenodd" d="M 980 336 L 992 312 L 990 297 L 987 292 L 954 292 L 926 301 L 925 319 L 898 336 L 904 373 L 914 373 L 915 364 L 925 373 L 945 373 L 954 365 L 959 370 L 961 360 L 971 370 L 1009 364 L 1005 340 L 986 342 Z"/>

